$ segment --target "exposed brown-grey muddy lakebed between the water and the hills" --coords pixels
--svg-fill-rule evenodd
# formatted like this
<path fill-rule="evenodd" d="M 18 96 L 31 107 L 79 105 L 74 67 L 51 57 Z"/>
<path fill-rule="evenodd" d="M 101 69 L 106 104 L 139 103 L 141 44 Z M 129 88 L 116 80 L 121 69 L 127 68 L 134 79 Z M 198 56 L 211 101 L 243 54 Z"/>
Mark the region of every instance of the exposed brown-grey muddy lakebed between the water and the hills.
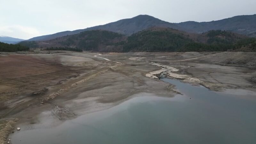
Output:
<path fill-rule="evenodd" d="M 0 67 L 0 143 L 17 126 L 50 127 L 132 97 L 179 93 L 160 74 L 213 91 L 256 92 L 256 52 L 5 53 Z"/>

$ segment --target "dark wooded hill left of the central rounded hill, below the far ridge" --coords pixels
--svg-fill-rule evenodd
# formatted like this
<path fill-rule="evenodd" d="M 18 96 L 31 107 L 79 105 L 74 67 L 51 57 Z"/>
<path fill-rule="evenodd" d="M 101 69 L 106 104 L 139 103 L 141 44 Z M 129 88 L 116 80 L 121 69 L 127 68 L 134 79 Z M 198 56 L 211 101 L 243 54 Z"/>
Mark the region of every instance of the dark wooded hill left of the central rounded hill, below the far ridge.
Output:
<path fill-rule="evenodd" d="M 19 44 L 30 48 L 77 48 L 84 51 L 121 51 L 118 44 L 125 40 L 124 35 L 106 31 L 91 30 L 76 35 L 63 36 L 46 41 L 23 41 Z"/>

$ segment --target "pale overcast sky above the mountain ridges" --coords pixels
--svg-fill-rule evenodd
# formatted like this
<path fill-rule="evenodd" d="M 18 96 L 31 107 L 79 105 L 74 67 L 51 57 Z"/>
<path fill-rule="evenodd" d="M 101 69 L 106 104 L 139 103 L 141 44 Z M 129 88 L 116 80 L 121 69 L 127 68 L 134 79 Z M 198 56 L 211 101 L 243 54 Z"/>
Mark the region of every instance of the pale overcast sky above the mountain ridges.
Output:
<path fill-rule="evenodd" d="M 0 36 L 29 39 L 148 14 L 168 22 L 256 14 L 256 0 L 0 0 Z"/>

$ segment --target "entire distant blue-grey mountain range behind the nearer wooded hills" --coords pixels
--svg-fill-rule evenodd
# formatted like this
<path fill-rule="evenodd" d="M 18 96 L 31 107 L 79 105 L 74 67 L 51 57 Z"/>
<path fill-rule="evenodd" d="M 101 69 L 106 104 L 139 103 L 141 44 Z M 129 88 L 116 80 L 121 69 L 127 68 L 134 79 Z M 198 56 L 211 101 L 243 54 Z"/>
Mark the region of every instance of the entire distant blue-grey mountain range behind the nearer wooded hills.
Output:
<path fill-rule="evenodd" d="M 37 36 L 27 41 L 45 41 L 57 37 L 75 35 L 88 30 L 108 30 L 117 32 L 126 36 L 130 36 L 141 30 L 150 27 L 166 27 L 174 28 L 181 31 L 204 33 L 210 30 L 227 30 L 247 36 L 256 37 L 256 14 L 254 15 L 241 15 L 223 20 L 210 21 L 210 22 L 195 22 L 187 21 L 181 23 L 170 23 L 159 20 L 149 15 L 138 15 L 130 19 L 118 20 L 105 25 L 95 26 L 91 28 L 78 29 L 74 31 L 63 31 L 52 35 Z"/>

